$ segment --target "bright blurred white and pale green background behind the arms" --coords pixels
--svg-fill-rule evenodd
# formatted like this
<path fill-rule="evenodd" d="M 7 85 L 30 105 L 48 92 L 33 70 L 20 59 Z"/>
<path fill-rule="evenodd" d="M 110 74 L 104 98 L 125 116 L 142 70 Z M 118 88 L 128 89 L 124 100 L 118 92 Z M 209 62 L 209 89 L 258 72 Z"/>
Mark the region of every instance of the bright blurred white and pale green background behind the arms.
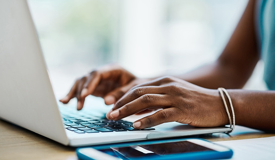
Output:
<path fill-rule="evenodd" d="M 247 0 L 28 2 L 58 98 L 67 94 L 76 78 L 109 63 L 139 77 L 181 74 L 211 63 L 247 4 Z M 258 70 L 254 77 L 261 77 Z"/>

